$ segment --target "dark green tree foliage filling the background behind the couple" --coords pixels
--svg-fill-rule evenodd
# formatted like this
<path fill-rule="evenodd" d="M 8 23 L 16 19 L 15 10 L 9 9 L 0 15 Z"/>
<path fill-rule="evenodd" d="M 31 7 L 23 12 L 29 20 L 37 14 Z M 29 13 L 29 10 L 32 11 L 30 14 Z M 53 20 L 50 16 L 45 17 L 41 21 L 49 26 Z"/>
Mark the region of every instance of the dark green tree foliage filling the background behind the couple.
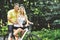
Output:
<path fill-rule="evenodd" d="M 0 0 L 0 21 L 7 22 L 7 12 L 13 8 L 14 3 L 23 4 L 30 21 L 34 23 L 34 30 L 47 28 L 50 25 L 60 24 L 59 0 Z"/>

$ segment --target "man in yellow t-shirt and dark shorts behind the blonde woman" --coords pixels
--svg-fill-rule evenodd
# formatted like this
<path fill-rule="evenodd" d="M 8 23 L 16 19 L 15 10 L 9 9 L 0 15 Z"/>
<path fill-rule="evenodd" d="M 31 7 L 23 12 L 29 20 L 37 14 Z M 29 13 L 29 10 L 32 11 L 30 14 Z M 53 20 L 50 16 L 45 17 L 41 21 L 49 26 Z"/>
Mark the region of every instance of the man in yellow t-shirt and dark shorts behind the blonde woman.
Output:
<path fill-rule="evenodd" d="M 12 35 L 13 35 L 13 24 L 16 24 L 16 19 L 17 19 L 17 14 L 19 10 L 19 4 L 15 3 L 14 4 L 14 9 L 9 10 L 7 14 L 7 20 L 8 20 L 8 30 L 9 30 L 9 36 L 8 40 L 12 40 Z"/>

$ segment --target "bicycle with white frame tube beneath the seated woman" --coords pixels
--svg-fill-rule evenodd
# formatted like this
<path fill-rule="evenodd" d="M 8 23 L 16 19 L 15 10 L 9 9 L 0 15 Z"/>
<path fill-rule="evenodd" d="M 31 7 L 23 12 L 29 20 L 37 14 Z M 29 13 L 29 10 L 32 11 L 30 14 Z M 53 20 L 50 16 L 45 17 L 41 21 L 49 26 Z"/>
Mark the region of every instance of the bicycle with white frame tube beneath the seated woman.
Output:
<path fill-rule="evenodd" d="M 25 32 L 22 37 L 19 37 L 19 40 L 41 40 L 37 35 L 31 33 L 31 26 L 25 27 L 24 30 Z M 7 38 L 8 37 L 5 37 L 4 40 L 7 40 Z M 15 39 L 13 38 L 13 40 Z"/>

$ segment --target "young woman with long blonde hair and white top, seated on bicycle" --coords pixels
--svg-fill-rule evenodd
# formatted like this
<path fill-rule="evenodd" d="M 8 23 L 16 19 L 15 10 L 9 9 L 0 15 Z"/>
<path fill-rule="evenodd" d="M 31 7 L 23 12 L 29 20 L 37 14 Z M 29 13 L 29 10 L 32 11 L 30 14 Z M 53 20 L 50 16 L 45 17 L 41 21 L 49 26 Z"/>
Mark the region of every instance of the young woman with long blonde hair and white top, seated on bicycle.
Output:
<path fill-rule="evenodd" d="M 26 24 L 25 24 L 26 22 Z M 25 12 L 25 8 L 23 6 L 20 6 L 19 8 L 19 14 L 17 16 L 17 23 L 18 24 L 14 24 L 14 36 L 16 38 L 16 40 L 18 40 L 18 33 L 20 32 L 21 35 L 24 34 L 24 26 L 28 26 L 29 23 L 33 24 L 32 22 L 28 21 L 26 12 Z"/>

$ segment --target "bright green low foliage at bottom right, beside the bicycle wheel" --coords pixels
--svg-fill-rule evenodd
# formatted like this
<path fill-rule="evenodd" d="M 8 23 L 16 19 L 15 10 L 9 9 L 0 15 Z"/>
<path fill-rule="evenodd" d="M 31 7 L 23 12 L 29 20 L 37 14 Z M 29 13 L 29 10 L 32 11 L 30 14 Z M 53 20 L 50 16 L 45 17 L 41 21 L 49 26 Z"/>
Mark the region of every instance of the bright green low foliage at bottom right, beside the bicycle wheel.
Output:
<path fill-rule="evenodd" d="M 34 31 L 32 33 L 39 36 L 42 40 L 58 40 L 56 38 L 60 38 L 60 29 L 50 30 L 43 28 L 41 31 Z"/>

